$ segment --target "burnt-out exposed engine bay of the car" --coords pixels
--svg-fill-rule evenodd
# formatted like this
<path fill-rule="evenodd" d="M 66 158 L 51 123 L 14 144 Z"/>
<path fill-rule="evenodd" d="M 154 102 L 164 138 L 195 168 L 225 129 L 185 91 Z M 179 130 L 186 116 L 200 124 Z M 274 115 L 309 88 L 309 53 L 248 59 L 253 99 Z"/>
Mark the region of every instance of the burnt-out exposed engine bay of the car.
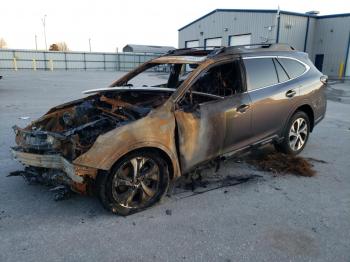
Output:
<path fill-rule="evenodd" d="M 97 94 L 53 107 L 25 128 L 14 126 L 17 150 L 58 153 L 72 161 L 100 135 L 145 117 L 174 91 L 160 87 L 88 90 L 85 93 Z"/>

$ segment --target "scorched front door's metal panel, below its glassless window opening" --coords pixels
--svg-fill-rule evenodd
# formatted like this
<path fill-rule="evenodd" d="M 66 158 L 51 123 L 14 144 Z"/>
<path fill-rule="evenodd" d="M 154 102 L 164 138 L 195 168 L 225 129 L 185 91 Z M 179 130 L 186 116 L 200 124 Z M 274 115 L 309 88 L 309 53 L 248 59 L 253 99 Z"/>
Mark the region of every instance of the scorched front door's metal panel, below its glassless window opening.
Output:
<path fill-rule="evenodd" d="M 194 81 L 189 90 L 196 84 Z M 215 99 L 200 102 L 190 110 L 178 104 L 175 118 L 182 172 L 232 150 L 238 141 L 251 135 L 247 93 L 216 95 Z"/>

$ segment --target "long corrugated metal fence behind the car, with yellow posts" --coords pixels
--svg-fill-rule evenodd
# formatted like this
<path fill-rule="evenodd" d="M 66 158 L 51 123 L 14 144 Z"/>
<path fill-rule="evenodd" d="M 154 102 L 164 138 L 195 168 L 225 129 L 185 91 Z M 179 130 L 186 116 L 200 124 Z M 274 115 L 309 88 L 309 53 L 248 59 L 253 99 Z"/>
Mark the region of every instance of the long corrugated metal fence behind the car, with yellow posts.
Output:
<path fill-rule="evenodd" d="M 130 71 L 161 54 L 0 49 L 0 70 Z"/>

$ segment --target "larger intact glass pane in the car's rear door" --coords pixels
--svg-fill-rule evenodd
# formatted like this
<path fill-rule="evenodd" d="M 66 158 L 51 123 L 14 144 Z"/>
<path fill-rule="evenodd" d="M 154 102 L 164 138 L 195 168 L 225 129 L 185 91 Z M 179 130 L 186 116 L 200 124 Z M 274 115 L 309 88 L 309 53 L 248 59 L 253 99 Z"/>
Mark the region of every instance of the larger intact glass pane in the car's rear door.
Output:
<path fill-rule="evenodd" d="M 248 90 L 254 90 L 278 83 L 272 58 L 244 59 Z"/>

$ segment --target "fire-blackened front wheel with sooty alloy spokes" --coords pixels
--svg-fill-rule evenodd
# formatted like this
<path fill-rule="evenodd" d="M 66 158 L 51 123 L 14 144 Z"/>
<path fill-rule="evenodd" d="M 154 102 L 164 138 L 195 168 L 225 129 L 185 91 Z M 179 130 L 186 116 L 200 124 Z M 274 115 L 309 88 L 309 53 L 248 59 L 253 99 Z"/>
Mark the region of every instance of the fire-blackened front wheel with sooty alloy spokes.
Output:
<path fill-rule="evenodd" d="M 127 216 L 142 211 L 165 195 L 169 186 L 167 162 L 153 150 L 132 152 L 96 179 L 96 191 L 109 211 Z"/>

